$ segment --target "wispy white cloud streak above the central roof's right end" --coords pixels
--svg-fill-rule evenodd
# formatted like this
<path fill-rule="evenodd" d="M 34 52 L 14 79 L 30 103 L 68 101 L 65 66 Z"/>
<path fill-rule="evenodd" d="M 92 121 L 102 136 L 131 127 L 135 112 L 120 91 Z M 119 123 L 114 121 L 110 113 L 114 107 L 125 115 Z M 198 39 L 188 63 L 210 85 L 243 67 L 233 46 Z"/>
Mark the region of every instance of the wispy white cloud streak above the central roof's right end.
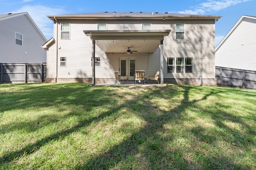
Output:
<path fill-rule="evenodd" d="M 247 2 L 250 0 L 208 0 L 208 2 L 201 3 L 194 6 L 194 10 L 184 10 L 179 11 L 180 14 L 205 14 L 206 12 L 217 12 L 219 10 L 240 4 L 242 2 Z"/>

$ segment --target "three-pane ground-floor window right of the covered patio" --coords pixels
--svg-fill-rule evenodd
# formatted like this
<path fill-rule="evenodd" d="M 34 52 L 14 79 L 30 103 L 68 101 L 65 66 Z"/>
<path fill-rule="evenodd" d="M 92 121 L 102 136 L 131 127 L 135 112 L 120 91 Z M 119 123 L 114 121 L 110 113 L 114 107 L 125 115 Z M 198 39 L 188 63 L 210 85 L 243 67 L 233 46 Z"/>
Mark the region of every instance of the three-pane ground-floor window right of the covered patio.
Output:
<path fill-rule="evenodd" d="M 172 57 L 167 58 L 167 73 L 192 73 L 192 57 Z"/>

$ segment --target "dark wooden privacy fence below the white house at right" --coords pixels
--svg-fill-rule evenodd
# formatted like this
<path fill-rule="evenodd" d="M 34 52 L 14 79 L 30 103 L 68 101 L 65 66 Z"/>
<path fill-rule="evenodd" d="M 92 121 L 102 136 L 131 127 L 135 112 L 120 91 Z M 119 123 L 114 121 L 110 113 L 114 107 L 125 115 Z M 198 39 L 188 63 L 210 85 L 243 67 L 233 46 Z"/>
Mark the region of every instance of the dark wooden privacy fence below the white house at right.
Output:
<path fill-rule="evenodd" d="M 217 85 L 256 89 L 256 71 L 215 67 Z"/>

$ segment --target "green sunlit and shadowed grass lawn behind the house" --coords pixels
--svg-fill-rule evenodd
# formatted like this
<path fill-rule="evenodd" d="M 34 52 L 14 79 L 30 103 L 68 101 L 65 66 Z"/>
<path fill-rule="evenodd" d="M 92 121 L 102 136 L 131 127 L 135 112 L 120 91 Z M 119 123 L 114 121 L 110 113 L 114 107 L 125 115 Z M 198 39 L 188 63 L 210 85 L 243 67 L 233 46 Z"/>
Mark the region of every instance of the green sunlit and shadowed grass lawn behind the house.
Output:
<path fill-rule="evenodd" d="M 0 85 L 4 170 L 253 170 L 255 134 L 255 90 Z"/>

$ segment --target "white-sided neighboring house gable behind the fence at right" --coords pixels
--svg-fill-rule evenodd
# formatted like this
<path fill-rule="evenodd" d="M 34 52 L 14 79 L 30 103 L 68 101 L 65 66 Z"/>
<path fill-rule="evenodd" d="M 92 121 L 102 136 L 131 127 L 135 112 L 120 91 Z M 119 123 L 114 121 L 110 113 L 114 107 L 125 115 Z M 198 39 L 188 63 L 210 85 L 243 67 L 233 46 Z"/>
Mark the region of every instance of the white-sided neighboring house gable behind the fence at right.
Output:
<path fill-rule="evenodd" d="M 215 49 L 216 66 L 256 71 L 256 17 L 242 16 Z"/>

